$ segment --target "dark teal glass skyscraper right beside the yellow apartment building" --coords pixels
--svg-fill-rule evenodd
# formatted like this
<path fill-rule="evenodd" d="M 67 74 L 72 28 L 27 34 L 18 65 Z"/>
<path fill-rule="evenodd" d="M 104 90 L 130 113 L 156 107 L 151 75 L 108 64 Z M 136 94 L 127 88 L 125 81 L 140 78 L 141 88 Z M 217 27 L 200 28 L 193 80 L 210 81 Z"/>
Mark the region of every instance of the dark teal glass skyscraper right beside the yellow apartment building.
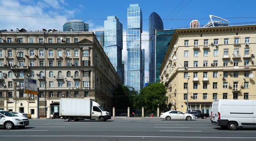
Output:
<path fill-rule="evenodd" d="M 160 67 L 175 30 L 160 30 L 156 35 L 156 82 L 159 82 Z"/>

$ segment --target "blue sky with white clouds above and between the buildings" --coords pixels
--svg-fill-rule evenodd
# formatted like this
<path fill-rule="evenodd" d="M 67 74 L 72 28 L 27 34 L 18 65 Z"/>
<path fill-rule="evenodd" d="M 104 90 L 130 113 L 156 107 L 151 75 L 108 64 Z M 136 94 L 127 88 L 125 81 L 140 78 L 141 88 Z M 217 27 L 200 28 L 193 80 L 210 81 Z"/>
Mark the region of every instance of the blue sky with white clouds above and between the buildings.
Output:
<path fill-rule="evenodd" d="M 103 31 L 104 20 L 107 16 L 115 15 L 123 24 L 122 59 L 127 60 L 127 8 L 133 3 L 140 5 L 143 14 L 142 49 L 145 49 L 145 77 L 148 76 L 149 68 L 149 43 L 144 40 L 149 39 L 148 19 L 152 12 L 162 18 L 164 29 L 189 26 L 192 19 L 198 19 L 200 25 L 204 25 L 209 21 L 209 15 L 227 18 L 231 24 L 256 22 L 256 18 L 241 18 L 256 17 L 254 0 L 0 0 L 0 29 L 63 30 L 63 24 L 72 20 L 69 18 L 86 18 L 80 20 L 89 23 L 89 31 Z"/>

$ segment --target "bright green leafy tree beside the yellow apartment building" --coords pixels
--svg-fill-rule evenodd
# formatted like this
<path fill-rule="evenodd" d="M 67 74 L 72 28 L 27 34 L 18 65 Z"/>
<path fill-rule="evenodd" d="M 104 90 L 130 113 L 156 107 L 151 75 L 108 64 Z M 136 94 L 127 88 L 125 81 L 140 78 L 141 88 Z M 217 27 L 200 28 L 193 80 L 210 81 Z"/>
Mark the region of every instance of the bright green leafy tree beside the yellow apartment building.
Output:
<path fill-rule="evenodd" d="M 134 108 L 144 109 L 147 112 L 155 113 L 159 104 L 160 111 L 167 108 L 168 97 L 165 96 L 167 88 L 162 83 L 151 83 L 140 89 L 138 96 L 134 96 Z"/>

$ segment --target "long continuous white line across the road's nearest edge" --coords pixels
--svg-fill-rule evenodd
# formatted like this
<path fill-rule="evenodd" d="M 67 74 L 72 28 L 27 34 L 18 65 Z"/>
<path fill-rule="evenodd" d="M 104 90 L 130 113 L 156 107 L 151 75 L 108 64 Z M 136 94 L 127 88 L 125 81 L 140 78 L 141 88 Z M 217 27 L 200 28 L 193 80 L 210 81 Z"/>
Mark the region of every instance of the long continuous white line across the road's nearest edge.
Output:
<path fill-rule="evenodd" d="M 9 130 L 13 131 L 13 130 Z M 256 139 L 256 137 L 186 137 L 186 136 L 86 136 L 86 135 L 81 135 L 81 136 L 76 136 L 76 135 L 1 135 L 1 137 L 148 137 L 148 138 L 253 138 Z"/>

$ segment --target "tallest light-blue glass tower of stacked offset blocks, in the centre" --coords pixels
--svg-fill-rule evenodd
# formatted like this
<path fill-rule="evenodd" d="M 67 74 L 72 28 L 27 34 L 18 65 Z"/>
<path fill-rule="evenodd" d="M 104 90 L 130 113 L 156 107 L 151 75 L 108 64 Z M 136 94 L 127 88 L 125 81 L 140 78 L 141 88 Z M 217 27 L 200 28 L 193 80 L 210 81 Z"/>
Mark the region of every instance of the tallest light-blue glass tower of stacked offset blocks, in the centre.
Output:
<path fill-rule="evenodd" d="M 135 91 L 140 91 L 141 72 L 142 72 L 142 11 L 139 4 L 130 4 L 127 8 L 127 77 L 126 83 L 134 87 Z"/>

